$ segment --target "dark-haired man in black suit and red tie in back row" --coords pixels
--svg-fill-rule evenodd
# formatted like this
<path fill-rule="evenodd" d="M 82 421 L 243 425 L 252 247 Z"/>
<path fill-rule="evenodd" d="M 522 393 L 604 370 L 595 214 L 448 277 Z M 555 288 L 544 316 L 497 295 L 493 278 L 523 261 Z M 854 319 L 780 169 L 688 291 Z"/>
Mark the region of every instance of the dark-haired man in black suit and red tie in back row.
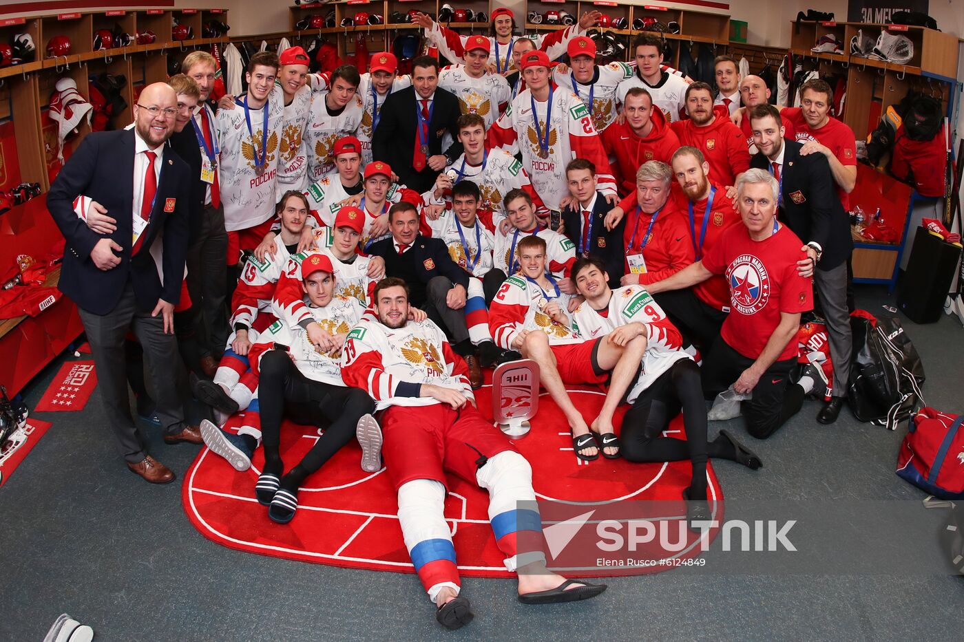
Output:
<path fill-rule="evenodd" d="M 456 121 L 462 116 L 455 94 L 439 88 L 439 61 L 412 62 L 412 87 L 388 94 L 371 140 L 372 156 L 395 168 L 398 182 L 419 194 L 462 153 Z M 454 143 L 442 149 L 448 132 Z"/>

